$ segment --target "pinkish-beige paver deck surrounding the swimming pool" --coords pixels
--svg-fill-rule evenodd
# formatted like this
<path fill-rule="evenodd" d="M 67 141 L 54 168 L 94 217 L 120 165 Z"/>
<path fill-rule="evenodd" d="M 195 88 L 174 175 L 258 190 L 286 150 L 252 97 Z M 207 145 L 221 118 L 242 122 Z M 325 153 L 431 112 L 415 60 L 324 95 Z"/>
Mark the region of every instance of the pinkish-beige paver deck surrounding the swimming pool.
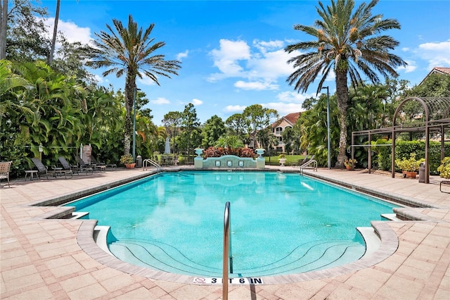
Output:
<path fill-rule="evenodd" d="M 15 181 L 11 188 L 0 189 L 0 298 L 221 299 L 220 285 L 159 280 L 101 263 L 79 242 L 83 228 L 92 220 L 43 220 L 42 215 L 59 208 L 30 206 L 146 172 L 117 170 L 68 180 Z M 383 261 L 344 273 L 329 272 L 318 279 L 231 285 L 229 299 L 449 299 L 450 194 L 439 192 L 439 178 L 425 185 L 364 170 L 310 173 L 352 189 L 393 195 L 427 207 L 400 208 L 402 215 L 420 220 L 385 222 L 398 238 L 398 249 Z"/>

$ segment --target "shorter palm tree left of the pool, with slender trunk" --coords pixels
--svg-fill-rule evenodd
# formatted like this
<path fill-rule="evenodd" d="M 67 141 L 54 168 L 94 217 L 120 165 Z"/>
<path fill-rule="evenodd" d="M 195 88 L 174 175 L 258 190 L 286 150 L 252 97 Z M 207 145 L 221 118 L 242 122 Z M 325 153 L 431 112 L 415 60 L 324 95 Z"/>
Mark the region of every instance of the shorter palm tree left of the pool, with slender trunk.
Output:
<path fill-rule="evenodd" d="M 131 141 L 130 111 L 133 107 L 136 77 L 149 77 L 157 85 L 158 76 L 170 78 L 170 74 L 178 75 L 180 61 L 165 61 L 165 56 L 154 52 L 165 45 L 165 42 L 155 42 L 150 34 L 155 24 L 143 30 L 138 28 L 133 17 L 129 15 L 128 28 L 120 20 L 113 19 L 115 31 L 106 25 L 109 32 L 101 31 L 95 34 L 96 50 L 94 58 L 89 62 L 94 68 L 106 68 L 103 76 L 115 73 L 117 77 L 126 75 L 125 79 L 125 109 L 127 111 L 124 128 L 124 154 L 129 154 Z"/>

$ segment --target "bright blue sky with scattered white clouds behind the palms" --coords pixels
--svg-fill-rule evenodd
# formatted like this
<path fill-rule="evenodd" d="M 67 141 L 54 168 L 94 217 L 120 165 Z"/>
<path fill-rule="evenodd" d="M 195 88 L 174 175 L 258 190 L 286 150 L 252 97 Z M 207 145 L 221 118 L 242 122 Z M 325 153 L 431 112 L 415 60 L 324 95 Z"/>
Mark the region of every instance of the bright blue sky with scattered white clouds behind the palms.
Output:
<path fill-rule="evenodd" d="M 366 1 L 368 2 L 368 1 Z M 316 82 L 299 94 L 285 80 L 293 73 L 283 50 L 288 44 L 312 40 L 293 25 L 313 25 L 318 1 L 124 1 L 63 0 L 58 29 L 70 40 L 89 43 L 94 32 L 106 30 L 113 19 L 127 24 L 133 15 L 140 27 L 155 23 L 152 37 L 165 42 L 158 54 L 181 61 L 179 76 L 161 77 L 137 85 L 150 100 L 153 121 L 160 125 L 165 113 L 195 105 L 203 123 L 212 115 L 226 120 L 246 106 L 261 104 L 286 115 L 302 111 L 302 101 L 316 96 Z M 330 1 L 323 1 L 328 5 Z M 356 1 L 356 5 L 361 1 Z M 56 1 L 42 1 L 49 8 L 53 30 Z M 433 67 L 450 67 L 450 1 L 380 0 L 373 13 L 399 20 L 401 30 L 385 33 L 400 42 L 394 53 L 409 65 L 399 79 L 418 84 Z M 124 77 L 103 77 L 102 85 L 124 89 Z M 318 81 L 318 80 L 316 80 Z M 334 77 L 326 81 L 335 92 Z"/>

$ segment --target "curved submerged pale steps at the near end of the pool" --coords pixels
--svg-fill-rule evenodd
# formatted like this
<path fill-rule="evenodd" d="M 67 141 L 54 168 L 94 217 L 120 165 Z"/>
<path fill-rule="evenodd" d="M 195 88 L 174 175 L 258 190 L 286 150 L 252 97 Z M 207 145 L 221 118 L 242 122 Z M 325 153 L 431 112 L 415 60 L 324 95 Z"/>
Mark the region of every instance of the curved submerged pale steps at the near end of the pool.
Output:
<path fill-rule="evenodd" d="M 221 259 L 211 265 L 201 258 L 195 262 L 181 254 L 174 246 L 159 242 L 118 241 L 110 244 L 110 251 L 122 261 L 155 270 L 205 277 L 221 276 Z M 303 273 L 331 268 L 355 261 L 364 255 L 364 246 L 357 242 L 311 242 L 297 246 L 285 257 L 264 265 L 240 265 L 239 252 L 233 254 L 235 274 L 241 276 L 269 276 L 285 273 Z"/>

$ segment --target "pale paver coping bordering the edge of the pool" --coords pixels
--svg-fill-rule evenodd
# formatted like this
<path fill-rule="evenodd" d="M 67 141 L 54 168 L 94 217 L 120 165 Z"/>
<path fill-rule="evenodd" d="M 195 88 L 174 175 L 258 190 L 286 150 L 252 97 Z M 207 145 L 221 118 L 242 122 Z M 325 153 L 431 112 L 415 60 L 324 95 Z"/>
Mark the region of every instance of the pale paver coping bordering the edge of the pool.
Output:
<path fill-rule="evenodd" d="M 181 170 L 185 170 L 182 168 L 162 168 L 162 172 L 178 172 Z M 188 171 L 210 171 L 210 170 L 196 170 L 196 169 L 188 169 Z M 217 170 L 214 170 L 217 171 Z M 226 172 L 227 170 L 220 169 L 221 172 Z M 255 170 L 240 170 L 240 171 L 270 171 L 270 172 L 283 172 L 283 173 L 298 173 L 298 170 L 279 170 L 274 168 L 265 168 L 265 169 L 255 169 Z M 73 193 L 63 194 L 58 197 L 53 197 L 49 199 L 44 199 L 41 201 L 32 202 L 30 204 L 27 204 L 26 206 L 51 206 L 54 207 L 52 211 L 49 211 L 48 213 L 44 213 L 42 215 L 39 215 L 37 217 L 34 217 L 33 220 L 43 220 L 43 219 L 68 219 L 71 218 L 72 212 L 75 211 L 75 207 L 73 206 L 59 206 L 61 204 L 67 204 L 68 202 L 79 199 L 83 196 L 89 196 L 91 194 L 95 194 L 96 192 L 103 192 L 107 189 L 117 187 L 120 185 L 123 185 L 128 182 L 132 182 L 135 180 L 140 180 L 144 177 L 148 177 L 151 175 L 155 175 L 159 173 L 157 170 L 150 170 L 147 173 L 142 173 L 139 175 L 134 175 L 132 177 L 127 177 L 122 180 L 115 180 L 113 182 L 107 182 L 104 185 L 99 185 L 97 187 L 92 187 L 91 189 L 83 189 L 79 190 Z M 312 172 L 311 172 L 312 173 Z M 306 173 L 306 175 L 310 175 L 309 173 Z M 316 175 L 313 173 L 311 177 L 315 177 L 316 179 L 323 180 L 324 182 L 330 182 L 334 185 L 338 185 L 340 187 L 349 188 L 352 190 L 354 187 L 349 185 L 346 182 L 342 182 L 343 184 L 340 185 L 340 181 L 330 179 L 329 177 L 321 177 L 321 176 L 314 176 Z M 364 189 L 367 190 L 367 189 Z M 359 190 L 356 190 L 357 192 L 362 192 Z M 363 194 L 366 194 L 362 192 Z M 368 193 L 371 196 L 376 196 L 376 192 Z M 383 198 L 383 197 L 381 197 Z M 399 197 L 396 197 L 399 198 Z M 400 197 L 402 199 L 402 197 Z M 404 199 L 403 199 L 404 200 Z M 421 206 L 424 207 L 424 206 Z M 430 207 L 430 206 L 427 206 Z M 425 217 L 424 215 L 414 212 L 410 215 L 415 215 L 421 218 L 423 220 Z M 427 219 L 429 220 L 429 219 Z M 288 274 L 288 275 L 274 275 L 274 276 L 262 276 L 262 280 L 264 281 L 264 285 L 275 285 L 275 284 L 287 284 L 287 283 L 293 283 L 293 282 L 302 282 L 302 281 L 308 281 L 308 280 L 316 280 L 316 279 L 323 279 L 330 276 L 336 276 L 336 275 L 343 275 L 346 273 L 351 273 L 356 270 L 361 270 L 364 268 L 368 268 L 372 265 L 375 265 L 377 263 L 380 263 L 381 261 L 384 261 L 386 258 L 390 257 L 398 248 L 398 238 L 397 235 L 395 235 L 394 230 L 387 225 L 388 221 L 372 221 L 371 225 L 374 230 L 374 235 L 376 235 L 380 239 L 380 247 L 374 251 L 372 254 L 364 255 L 362 258 L 360 258 L 357 261 L 354 261 L 352 263 L 347 263 L 345 265 L 340 265 L 333 268 L 327 268 L 323 270 L 314 270 L 309 271 L 305 273 L 296 273 L 296 274 Z M 392 221 L 391 221 L 392 222 Z M 97 220 L 82 220 L 82 224 L 79 226 L 79 230 L 77 233 L 77 243 L 79 246 L 88 254 L 91 256 L 91 258 L 94 258 L 99 263 L 102 263 L 104 265 L 108 265 L 110 268 L 115 268 L 117 270 L 120 270 L 124 273 L 129 274 L 136 274 L 141 275 L 143 277 L 148 277 L 155 280 L 165 280 L 170 282 L 179 282 L 183 284 L 191 284 L 191 285 L 198 285 L 193 283 L 193 280 L 195 277 L 189 276 L 189 275 L 181 275 L 176 273 L 167 273 L 160 270 L 152 270 L 149 268 L 143 268 L 139 267 L 137 265 L 132 265 L 131 263 L 126 263 L 124 261 L 120 261 L 118 258 L 115 258 L 115 256 L 111 256 L 110 254 L 106 253 L 101 249 L 96 242 L 94 241 L 94 230 L 97 225 Z M 364 234 L 361 234 L 364 237 Z M 366 239 L 364 237 L 366 242 L 370 239 Z M 205 284 L 207 285 L 207 284 Z"/>

